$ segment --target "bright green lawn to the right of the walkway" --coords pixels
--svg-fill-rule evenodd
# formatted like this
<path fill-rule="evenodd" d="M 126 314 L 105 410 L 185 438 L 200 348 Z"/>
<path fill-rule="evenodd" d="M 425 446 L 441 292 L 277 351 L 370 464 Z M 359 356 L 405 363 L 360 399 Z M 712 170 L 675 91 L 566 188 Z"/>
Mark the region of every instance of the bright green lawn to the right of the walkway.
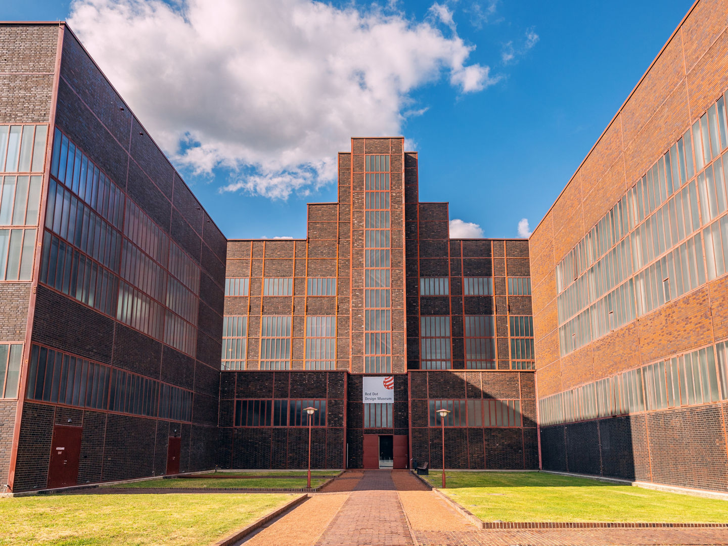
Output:
<path fill-rule="evenodd" d="M 442 472 L 427 480 L 442 486 Z M 725 523 L 728 501 L 545 472 L 446 472 L 443 493 L 483 521 Z"/>

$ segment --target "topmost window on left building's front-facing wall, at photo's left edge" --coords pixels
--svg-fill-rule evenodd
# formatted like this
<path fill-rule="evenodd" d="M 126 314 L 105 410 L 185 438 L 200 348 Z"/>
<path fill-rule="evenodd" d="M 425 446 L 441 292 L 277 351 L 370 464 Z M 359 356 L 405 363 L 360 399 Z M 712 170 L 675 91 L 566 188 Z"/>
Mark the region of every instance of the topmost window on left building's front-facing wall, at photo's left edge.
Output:
<path fill-rule="evenodd" d="M 0 172 L 40 173 L 47 125 L 0 125 Z"/>

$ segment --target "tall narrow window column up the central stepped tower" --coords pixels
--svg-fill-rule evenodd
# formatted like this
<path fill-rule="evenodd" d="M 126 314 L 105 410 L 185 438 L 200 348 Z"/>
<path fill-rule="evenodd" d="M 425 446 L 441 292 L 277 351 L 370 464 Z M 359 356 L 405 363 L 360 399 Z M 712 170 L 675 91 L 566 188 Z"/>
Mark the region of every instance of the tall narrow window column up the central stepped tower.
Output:
<path fill-rule="evenodd" d="M 365 156 L 364 371 L 392 371 L 389 155 Z"/>

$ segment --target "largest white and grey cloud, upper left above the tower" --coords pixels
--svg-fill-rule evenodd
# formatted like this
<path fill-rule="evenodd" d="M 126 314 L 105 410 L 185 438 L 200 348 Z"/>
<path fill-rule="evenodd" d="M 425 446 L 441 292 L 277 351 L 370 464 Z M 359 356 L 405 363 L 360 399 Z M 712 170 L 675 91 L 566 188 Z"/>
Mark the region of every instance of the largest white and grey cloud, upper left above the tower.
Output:
<path fill-rule="evenodd" d="M 449 9 L 435 11 L 448 24 Z M 224 191 L 274 199 L 333 181 L 351 135 L 400 134 L 422 110 L 418 87 L 498 81 L 432 17 L 376 5 L 74 0 L 68 21 L 177 165 L 225 167 Z"/>

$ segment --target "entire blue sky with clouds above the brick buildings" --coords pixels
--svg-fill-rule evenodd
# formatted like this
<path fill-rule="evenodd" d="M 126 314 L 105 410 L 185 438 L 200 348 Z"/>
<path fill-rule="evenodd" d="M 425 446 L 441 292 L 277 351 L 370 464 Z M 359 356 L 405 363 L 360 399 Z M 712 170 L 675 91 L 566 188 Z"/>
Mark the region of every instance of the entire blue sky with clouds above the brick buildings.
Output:
<path fill-rule="evenodd" d="M 371 55 L 373 66 L 362 69 L 361 76 L 371 102 L 360 108 L 352 90 L 341 84 L 353 76 L 340 65 L 347 55 L 352 66 L 367 65 L 376 33 L 342 33 L 325 43 L 301 36 L 280 53 L 286 27 L 266 27 L 272 15 L 261 13 L 262 23 L 250 32 L 258 36 L 256 44 L 263 36 L 264 51 L 242 43 L 234 32 L 203 40 L 217 42 L 210 55 L 239 53 L 228 66 L 246 55 L 270 55 L 267 65 L 249 67 L 257 71 L 255 78 L 231 76 L 229 68 L 205 68 L 186 81 L 174 70 L 157 77 L 157 58 L 168 59 L 164 66 L 183 59 L 181 73 L 210 64 L 209 58 L 190 58 L 164 36 L 172 20 L 165 17 L 173 12 L 162 17 L 159 9 L 145 11 L 149 2 L 120 1 L 127 11 L 120 13 L 110 0 L 84 0 L 76 5 L 72 28 L 229 238 L 305 237 L 305 203 L 336 200 L 336 185 L 327 177 L 336 152 L 349 146 L 344 135 L 363 136 L 360 130 L 386 134 L 398 129 L 408 138 L 419 152 L 420 199 L 449 201 L 451 219 L 478 224 L 486 237 L 516 237 L 521 218 L 528 218 L 533 229 L 692 5 L 689 0 L 400 0 L 380 8 L 333 2 L 322 10 L 309 0 L 281 0 L 286 11 L 296 8 L 302 14 L 294 21 L 296 29 L 310 25 L 312 36 L 327 34 L 332 16 L 348 17 L 352 28 L 396 23 L 397 35 L 386 45 L 398 52 L 403 44 L 403 64 L 392 63 L 381 76 L 376 65 L 389 63 L 387 48 Z M 197 15 L 194 9 L 186 13 L 190 24 L 198 25 L 190 36 L 205 36 L 202 25 L 210 23 L 200 21 L 208 17 L 242 19 L 228 1 L 207 0 Z M 70 9 L 68 2 L 28 0 L 5 4 L 0 17 L 67 19 Z M 225 39 L 234 43 L 227 47 Z M 142 45 L 134 50 L 133 44 Z M 318 70 L 317 58 L 331 58 L 333 51 L 340 58 L 334 63 L 339 68 L 331 68 L 332 90 L 325 84 L 328 76 L 317 79 L 309 72 Z M 467 55 L 462 66 L 455 66 L 462 55 Z M 281 58 L 285 62 L 277 63 Z M 435 68 L 411 70 L 423 59 Z M 244 65 L 242 72 L 248 72 Z M 297 80 L 306 82 L 300 86 L 304 96 L 298 97 Z M 183 92 L 170 93 L 175 82 Z M 238 85 L 245 92 L 238 94 Z M 288 101 L 291 94 L 295 104 Z M 147 100 L 149 95 L 165 101 Z M 229 113 L 216 105 L 218 97 L 225 97 L 221 105 L 240 105 L 240 119 L 228 124 Z M 198 111 L 198 105 L 204 106 Z M 311 162 L 301 159 L 309 156 Z"/>

